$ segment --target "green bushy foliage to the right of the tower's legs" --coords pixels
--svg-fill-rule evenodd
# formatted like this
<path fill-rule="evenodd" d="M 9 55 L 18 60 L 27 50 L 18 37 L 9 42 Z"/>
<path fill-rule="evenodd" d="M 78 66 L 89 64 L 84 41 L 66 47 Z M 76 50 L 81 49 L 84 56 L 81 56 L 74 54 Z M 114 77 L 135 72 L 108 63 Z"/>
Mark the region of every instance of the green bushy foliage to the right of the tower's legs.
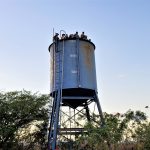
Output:
<path fill-rule="evenodd" d="M 133 143 L 135 135 L 137 136 L 137 132 L 141 131 L 140 128 L 144 130 L 141 134 L 146 143 L 148 135 L 150 136 L 150 134 L 146 135 L 145 128 L 142 126 L 146 119 L 146 115 L 141 111 L 129 110 L 125 114 L 114 115 L 104 113 L 105 124 L 102 127 L 91 122 L 85 125 L 87 133 L 78 139 L 79 145 L 84 143 L 84 148 L 94 150 L 119 149 L 122 143 Z M 140 138 L 140 134 L 136 138 Z"/>

